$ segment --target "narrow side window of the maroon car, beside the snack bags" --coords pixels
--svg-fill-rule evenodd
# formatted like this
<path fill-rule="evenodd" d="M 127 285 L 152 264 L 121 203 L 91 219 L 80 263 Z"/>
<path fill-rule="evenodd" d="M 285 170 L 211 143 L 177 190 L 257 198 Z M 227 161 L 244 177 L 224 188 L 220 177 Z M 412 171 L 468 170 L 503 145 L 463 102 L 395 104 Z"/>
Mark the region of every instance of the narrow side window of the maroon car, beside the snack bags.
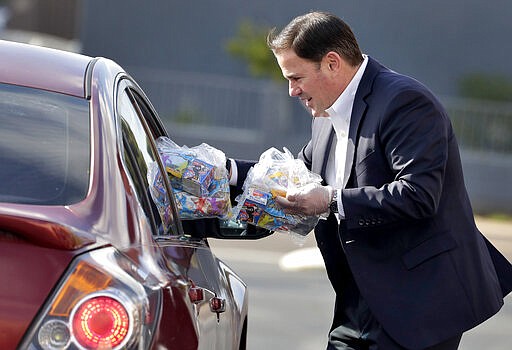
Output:
<path fill-rule="evenodd" d="M 140 97 L 139 97 L 140 98 Z M 154 136 L 144 123 L 142 110 L 134 92 L 127 84 L 121 84 L 117 98 L 123 140 L 123 158 L 144 213 L 153 223 L 154 235 L 178 235 L 178 222 L 171 206 L 172 198 L 161 187 L 164 206 L 157 207 L 151 197 L 152 178 L 161 172 L 161 162 L 154 144 Z M 162 212 L 162 210 L 165 211 Z"/>

